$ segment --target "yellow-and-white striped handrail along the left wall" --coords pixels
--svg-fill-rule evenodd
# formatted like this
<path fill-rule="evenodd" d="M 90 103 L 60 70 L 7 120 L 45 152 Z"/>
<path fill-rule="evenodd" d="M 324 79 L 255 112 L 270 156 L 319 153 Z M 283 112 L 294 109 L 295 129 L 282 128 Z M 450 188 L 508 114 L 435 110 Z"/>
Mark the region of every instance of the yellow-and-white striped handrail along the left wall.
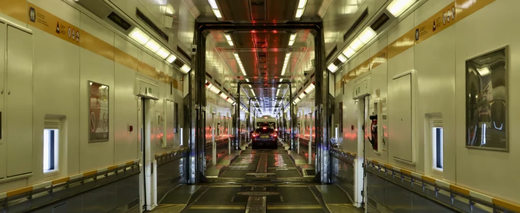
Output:
<path fill-rule="evenodd" d="M 68 177 L 61 177 L 54 180 L 29 185 L 28 187 L 10 190 L 7 192 L 0 193 L 0 206 L 7 206 L 8 203 L 15 201 L 17 202 L 21 199 L 31 199 L 34 195 L 38 195 L 45 192 L 53 193 L 69 189 L 71 187 L 76 186 L 78 183 L 83 184 L 85 182 L 97 180 L 98 178 L 107 178 L 109 176 L 116 175 L 119 172 L 125 172 L 128 169 L 134 168 L 139 168 L 140 171 L 139 159 L 83 172 Z M 54 200 L 50 202 L 54 202 Z"/>

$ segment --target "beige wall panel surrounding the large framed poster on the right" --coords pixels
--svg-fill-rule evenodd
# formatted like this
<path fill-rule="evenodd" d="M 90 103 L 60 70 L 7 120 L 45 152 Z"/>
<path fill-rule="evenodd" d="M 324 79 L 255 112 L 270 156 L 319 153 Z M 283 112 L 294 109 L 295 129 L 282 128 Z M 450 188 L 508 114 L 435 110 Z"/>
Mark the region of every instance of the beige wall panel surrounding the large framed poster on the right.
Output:
<path fill-rule="evenodd" d="M 520 132 L 520 29 L 512 27 L 514 20 L 520 19 L 520 1 L 501 0 L 475 12 L 459 21 L 455 27 L 456 39 L 456 132 L 457 134 L 457 184 L 482 191 L 486 194 L 520 201 L 520 147 L 517 145 Z M 498 14 L 497 14 L 498 12 Z M 493 17 L 493 18 L 490 18 Z M 478 27 L 476 27 L 478 26 Z M 482 30 L 486 29 L 486 30 Z M 465 60 L 485 52 L 509 45 L 509 152 L 467 149 L 465 147 Z"/>

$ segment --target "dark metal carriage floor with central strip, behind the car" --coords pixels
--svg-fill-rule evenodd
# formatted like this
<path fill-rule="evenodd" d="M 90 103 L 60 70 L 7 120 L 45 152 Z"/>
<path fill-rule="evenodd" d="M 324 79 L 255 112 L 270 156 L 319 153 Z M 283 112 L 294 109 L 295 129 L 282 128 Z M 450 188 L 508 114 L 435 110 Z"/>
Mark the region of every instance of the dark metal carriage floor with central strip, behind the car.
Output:
<path fill-rule="evenodd" d="M 302 177 L 280 148 L 248 149 L 214 180 L 180 185 L 150 212 L 364 212 L 337 185 Z"/>

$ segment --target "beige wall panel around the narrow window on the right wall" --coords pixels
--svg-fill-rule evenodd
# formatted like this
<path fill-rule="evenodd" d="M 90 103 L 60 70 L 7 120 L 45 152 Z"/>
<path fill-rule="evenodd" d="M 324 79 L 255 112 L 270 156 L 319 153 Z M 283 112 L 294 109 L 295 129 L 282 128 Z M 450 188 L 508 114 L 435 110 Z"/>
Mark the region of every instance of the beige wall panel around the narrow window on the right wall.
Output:
<path fill-rule="evenodd" d="M 432 168 L 433 164 L 425 165 L 426 150 L 424 147 L 426 113 L 441 113 L 443 116 L 443 145 L 444 145 L 444 178 L 455 181 L 455 28 L 447 28 L 414 46 L 415 70 L 417 74 L 418 90 L 415 95 L 415 132 L 417 164 L 416 172 L 425 172 L 425 167 Z M 428 124 L 429 125 L 429 124 Z M 428 127 L 429 129 L 429 127 Z M 430 130 L 431 131 L 431 130 Z M 428 138 L 428 140 L 431 140 Z M 429 172 L 428 172 L 429 174 Z"/>

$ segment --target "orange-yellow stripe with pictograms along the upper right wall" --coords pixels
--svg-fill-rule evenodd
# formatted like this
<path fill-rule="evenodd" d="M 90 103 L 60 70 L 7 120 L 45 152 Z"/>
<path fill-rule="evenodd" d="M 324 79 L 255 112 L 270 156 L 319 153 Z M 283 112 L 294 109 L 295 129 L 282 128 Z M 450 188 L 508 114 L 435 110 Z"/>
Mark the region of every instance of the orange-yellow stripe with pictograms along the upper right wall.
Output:
<path fill-rule="evenodd" d="M 339 81 L 336 82 L 336 89 L 340 89 L 343 87 L 343 84 L 355 79 L 356 77 L 362 75 L 375 68 L 377 65 L 386 62 L 389 59 L 394 58 L 395 56 L 401 54 L 406 51 L 410 47 L 417 45 L 426 39 L 432 37 L 433 35 L 447 29 L 449 26 L 457 23 L 458 21 L 464 19 L 465 17 L 473 14 L 474 12 L 482 9 L 483 7 L 489 5 L 495 0 L 456 0 L 451 2 L 446 7 L 436 12 L 433 16 L 426 19 L 422 23 L 415 26 L 410 31 L 406 32 L 401 37 L 397 38 L 396 41 L 390 43 L 388 46 L 383 48 L 383 50 L 377 52 L 368 60 L 362 62 L 360 65 L 356 66 L 356 68 L 350 70 L 345 73 Z M 449 10 L 449 11 L 448 11 Z M 450 11 L 455 11 L 453 16 L 449 16 Z M 449 20 L 449 21 L 448 21 Z M 434 30 L 435 24 L 435 30 Z M 417 40 L 416 32 L 418 33 Z M 386 53 L 386 54 L 385 54 Z M 380 57 L 376 57 L 380 56 Z M 368 67 L 367 63 L 371 66 Z M 379 64 L 378 64 L 379 63 Z M 375 65 L 376 64 L 376 65 Z M 375 65 L 375 66 L 374 66 Z"/>

